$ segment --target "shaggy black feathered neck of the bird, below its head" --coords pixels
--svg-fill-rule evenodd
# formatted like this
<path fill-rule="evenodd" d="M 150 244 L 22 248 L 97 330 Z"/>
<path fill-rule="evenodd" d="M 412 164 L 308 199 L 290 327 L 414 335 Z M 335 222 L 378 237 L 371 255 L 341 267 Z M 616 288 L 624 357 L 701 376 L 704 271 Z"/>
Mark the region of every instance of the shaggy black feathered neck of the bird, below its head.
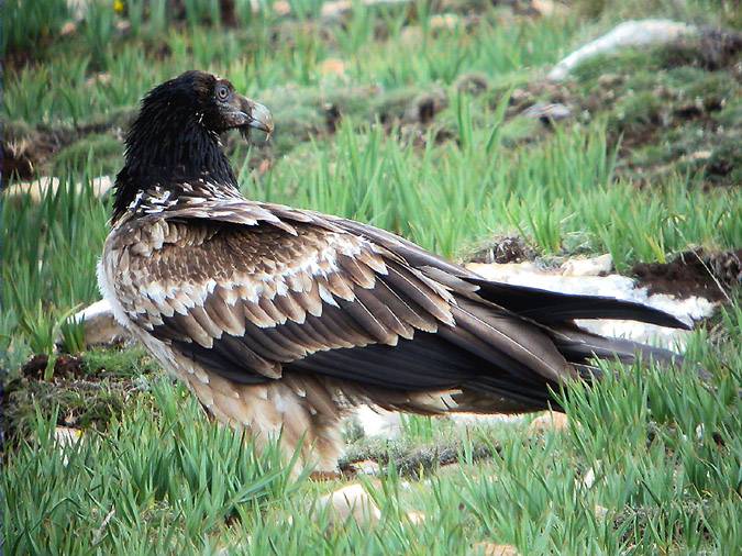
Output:
<path fill-rule="evenodd" d="M 167 122 L 143 123 L 134 122 L 126 140 L 124 167 L 115 180 L 113 222 L 141 194 L 156 187 L 173 190 L 174 197 L 201 180 L 225 190 L 237 190 L 237 180 L 219 136 L 200 122 L 178 127 Z M 204 191 L 204 196 L 209 194 L 209 190 Z"/>

